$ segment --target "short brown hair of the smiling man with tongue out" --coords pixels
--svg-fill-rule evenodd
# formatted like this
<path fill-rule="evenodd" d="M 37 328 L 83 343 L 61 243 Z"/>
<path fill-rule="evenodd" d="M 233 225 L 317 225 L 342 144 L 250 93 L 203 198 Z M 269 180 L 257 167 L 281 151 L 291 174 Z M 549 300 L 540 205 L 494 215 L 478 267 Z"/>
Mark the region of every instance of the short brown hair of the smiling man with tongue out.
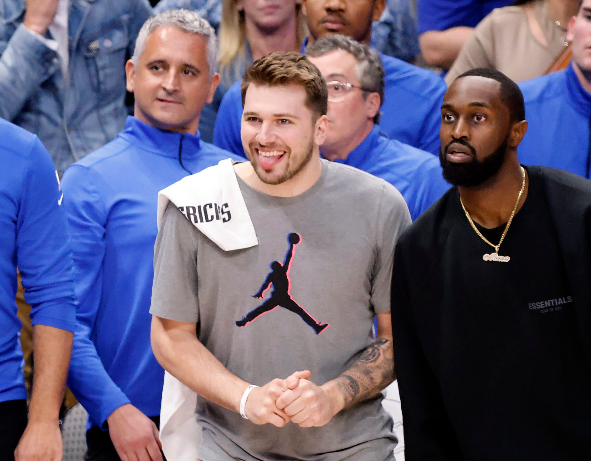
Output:
<path fill-rule="evenodd" d="M 246 69 L 242 77 L 242 107 L 248 86 L 254 83 L 262 86 L 299 85 L 306 90 L 306 107 L 316 117 L 326 115 L 328 90 L 324 77 L 306 55 L 289 51 L 275 52 L 256 60 Z"/>

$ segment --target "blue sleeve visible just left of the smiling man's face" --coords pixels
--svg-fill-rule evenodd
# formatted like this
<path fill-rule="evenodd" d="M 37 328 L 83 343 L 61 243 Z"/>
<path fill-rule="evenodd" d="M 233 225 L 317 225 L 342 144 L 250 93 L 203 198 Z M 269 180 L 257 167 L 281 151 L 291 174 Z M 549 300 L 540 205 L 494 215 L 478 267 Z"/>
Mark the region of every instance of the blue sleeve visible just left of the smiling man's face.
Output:
<path fill-rule="evenodd" d="M 216 124 L 213 127 L 213 144 L 244 156 L 242 140 L 240 139 L 240 125 L 242 120 L 242 94 L 240 81 L 233 84 L 222 99 L 217 111 Z"/>

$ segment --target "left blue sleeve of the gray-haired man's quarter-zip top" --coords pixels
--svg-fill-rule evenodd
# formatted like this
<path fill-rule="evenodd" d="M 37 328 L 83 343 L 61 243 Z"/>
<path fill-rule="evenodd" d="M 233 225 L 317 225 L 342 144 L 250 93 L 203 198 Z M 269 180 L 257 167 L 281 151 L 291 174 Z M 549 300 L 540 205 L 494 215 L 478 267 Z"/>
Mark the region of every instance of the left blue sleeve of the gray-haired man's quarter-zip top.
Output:
<path fill-rule="evenodd" d="M 78 300 L 67 384 L 90 419 L 102 426 L 113 411 L 129 403 L 106 372 L 91 339 L 102 290 L 106 212 L 92 171 L 72 165 L 62 183 L 63 206 L 72 233 L 74 289 Z"/>

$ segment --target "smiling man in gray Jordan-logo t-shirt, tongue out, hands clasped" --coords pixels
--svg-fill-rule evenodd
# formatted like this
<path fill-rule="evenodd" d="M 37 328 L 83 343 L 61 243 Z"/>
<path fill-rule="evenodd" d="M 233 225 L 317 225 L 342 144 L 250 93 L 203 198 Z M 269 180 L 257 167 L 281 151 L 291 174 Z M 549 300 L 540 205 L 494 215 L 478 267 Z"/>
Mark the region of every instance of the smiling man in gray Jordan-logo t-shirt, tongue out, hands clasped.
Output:
<path fill-rule="evenodd" d="M 259 244 L 223 251 L 168 205 L 154 354 L 200 396 L 202 461 L 392 460 L 381 390 L 394 378 L 392 254 L 408 209 L 382 179 L 320 160 L 326 85 L 306 57 L 257 61 L 243 99 L 250 162 L 234 169 Z"/>

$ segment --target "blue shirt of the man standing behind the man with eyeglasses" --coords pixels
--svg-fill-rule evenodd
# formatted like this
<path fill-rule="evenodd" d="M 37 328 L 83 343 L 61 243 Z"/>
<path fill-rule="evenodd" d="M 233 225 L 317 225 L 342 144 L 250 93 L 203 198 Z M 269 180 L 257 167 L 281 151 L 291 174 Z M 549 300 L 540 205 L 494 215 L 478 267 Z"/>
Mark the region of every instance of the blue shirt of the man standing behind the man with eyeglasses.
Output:
<path fill-rule="evenodd" d="M 308 39 L 304 40 L 302 53 Z M 433 154 L 441 145 L 441 104 L 447 86 L 436 73 L 379 53 L 385 71 L 384 101 L 379 126 L 390 139 Z M 226 151 L 244 155 L 240 139 L 242 121 L 241 82 L 226 92 L 217 112 L 213 143 Z"/>

